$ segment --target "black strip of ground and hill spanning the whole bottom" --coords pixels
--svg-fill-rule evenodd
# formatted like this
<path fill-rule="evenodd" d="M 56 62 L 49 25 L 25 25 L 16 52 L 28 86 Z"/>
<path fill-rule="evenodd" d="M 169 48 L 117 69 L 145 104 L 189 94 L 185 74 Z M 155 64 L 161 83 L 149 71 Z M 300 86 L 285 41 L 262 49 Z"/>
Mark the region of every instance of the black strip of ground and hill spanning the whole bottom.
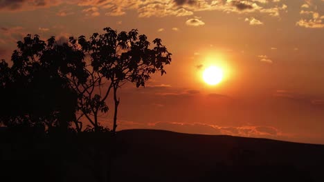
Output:
<path fill-rule="evenodd" d="M 324 145 L 165 130 L 122 130 L 113 138 L 108 132 L 0 136 L 7 181 L 324 179 Z"/>

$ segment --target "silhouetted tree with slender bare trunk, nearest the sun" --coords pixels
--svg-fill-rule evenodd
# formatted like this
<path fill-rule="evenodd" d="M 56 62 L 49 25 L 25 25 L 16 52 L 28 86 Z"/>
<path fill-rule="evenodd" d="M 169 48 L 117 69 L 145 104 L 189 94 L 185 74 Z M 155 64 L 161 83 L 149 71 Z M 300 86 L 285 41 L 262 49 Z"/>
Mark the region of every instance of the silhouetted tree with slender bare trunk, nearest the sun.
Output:
<path fill-rule="evenodd" d="M 105 34 L 94 33 L 89 39 L 80 36 L 70 37 L 69 42 L 75 50 L 82 50 L 89 58 L 83 67 L 85 81 L 71 77 L 71 85 L 80 94 L 79 106 L 82 114 L 90 121 L 95 130 L 98 128 L 98 112 L 107 112 L 105 103 L 111 90 L 114 97 L 114 125 L 117 128 L 117 112 L 120 99 L 118 88 L 127 81 L 136 83 L 136 87 L 145 86 L 150 74 L 165 74 L 164 65 L 170 64 L 171 53 L 161 44 L 161 39 L 154 39 L 154 48 L 145 34 L 138 36 L 137 30 L 117 33 L 111 28 L 104 28 Z M 78 82 L 79 81 L 79 82 Z M 80 85 L 82 87 L 80 88 Z M 93 93 L 95 88 L 99 92 Z M 105 88 L 103 88 L 105 87 Z M 97 91 L 98 91 L 97 90 Z M 93 119 L 89 117 L 93 116 Z"/>

